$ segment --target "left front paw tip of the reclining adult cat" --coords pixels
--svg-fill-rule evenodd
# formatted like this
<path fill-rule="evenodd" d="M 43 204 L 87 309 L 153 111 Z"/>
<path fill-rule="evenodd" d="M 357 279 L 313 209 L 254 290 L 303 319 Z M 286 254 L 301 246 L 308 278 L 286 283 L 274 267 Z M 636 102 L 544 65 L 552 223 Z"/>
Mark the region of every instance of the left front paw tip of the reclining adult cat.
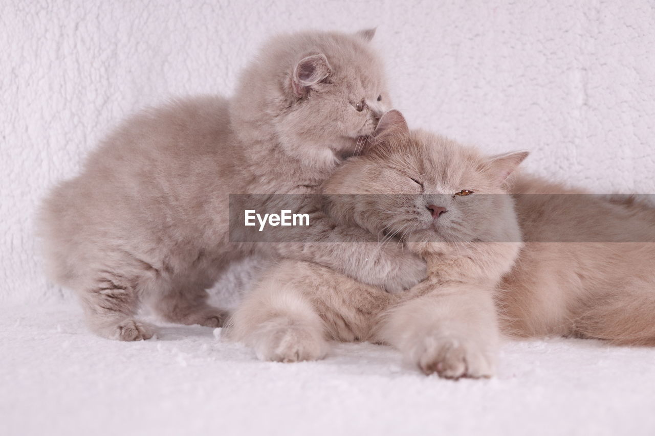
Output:
<path fill-rule="evenodd" d="M 258 329 L 255 353 L 261 360 L 299 362 L 326 355 L 327 341 L 321 332 L 303 325 L 269 321 Z"/>

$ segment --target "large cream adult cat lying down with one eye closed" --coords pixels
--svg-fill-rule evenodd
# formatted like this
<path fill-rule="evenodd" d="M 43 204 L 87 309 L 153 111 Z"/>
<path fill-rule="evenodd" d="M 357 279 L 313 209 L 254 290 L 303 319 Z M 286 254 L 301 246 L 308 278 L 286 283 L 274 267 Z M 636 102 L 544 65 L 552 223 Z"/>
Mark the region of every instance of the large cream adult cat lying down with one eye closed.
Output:
<path fill-rule="evenodd" d="M 375 137 L 326 181 L 329 213 L 397 234 L 428 279 L 389 295 L 286 261 L 234 312 L 230 338 L 278 361 L 318 359 L 328 338 L 383 342 L 447 378 L 493 376 L 501 335 L 655 345 L 655 209 L 513 173 L 527 153 L 485 158 L 397 111 Z"/>

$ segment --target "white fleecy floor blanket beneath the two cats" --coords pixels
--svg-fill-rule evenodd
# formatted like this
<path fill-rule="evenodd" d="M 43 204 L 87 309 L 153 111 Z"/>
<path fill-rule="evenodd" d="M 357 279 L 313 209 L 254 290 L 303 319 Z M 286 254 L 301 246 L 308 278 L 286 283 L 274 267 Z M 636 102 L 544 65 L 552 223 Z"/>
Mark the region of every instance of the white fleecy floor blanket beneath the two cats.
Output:
<path fill-rule="evenodd" d="M 453 382 L 371 344 L 341 344 L 324 361 L 263 363 L 207 327 L 109 341 L 86 333 L 77 312 L 0 308 L 0 434 L 655 433 L 648 349 L 516 342 L 504 346 L 497 378 Z"/>

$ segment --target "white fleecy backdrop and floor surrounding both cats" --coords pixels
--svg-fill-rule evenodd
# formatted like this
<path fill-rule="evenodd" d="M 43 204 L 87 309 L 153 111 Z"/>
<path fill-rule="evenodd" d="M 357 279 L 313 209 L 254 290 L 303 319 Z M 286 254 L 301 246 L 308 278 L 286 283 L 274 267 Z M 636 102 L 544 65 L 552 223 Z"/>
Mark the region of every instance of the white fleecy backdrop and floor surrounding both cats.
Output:
<path fill-rule="evenodd" d="M 1 1 L 0 433 L 654 434 L 654 350 L 508 344 L 496 380 L 453 383 L 367 344 L 259 363 L 200 327 L 124 344 L 70 302 L 21 305 L 64 295 L 35 254 L 48 187 L 143 105 L 230 94 L 276 31 L 379 26 L 411 126 L 529 149 L 532 170 L 595 192 L 655 193 L 655 3 L 532 3 Z"/>

